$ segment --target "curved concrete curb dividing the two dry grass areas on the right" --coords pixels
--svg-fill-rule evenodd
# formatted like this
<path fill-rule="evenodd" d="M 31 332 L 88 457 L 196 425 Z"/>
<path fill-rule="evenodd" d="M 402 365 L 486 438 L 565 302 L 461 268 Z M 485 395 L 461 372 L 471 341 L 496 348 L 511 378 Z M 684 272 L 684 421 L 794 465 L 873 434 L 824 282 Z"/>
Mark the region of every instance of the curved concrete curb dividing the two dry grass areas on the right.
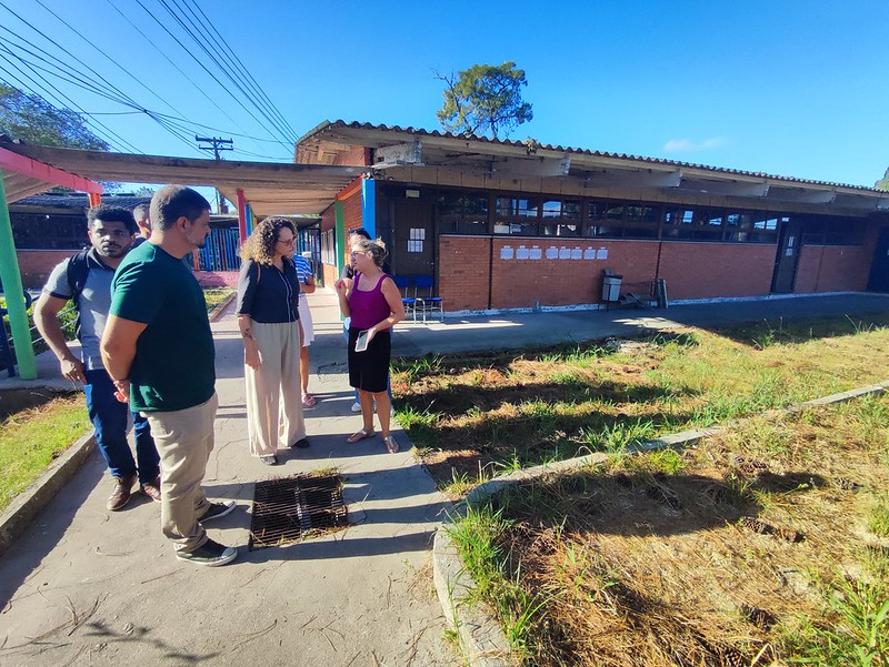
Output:
<path fill-rule="evenodd" d="M 858 387 L 839 394 L 822 396 L 821 398 L 792 405 L 786 410 L 769 411 L 763 414 L 778 415 L 799 412 L 807 407 L 842 403 L 851 398 L 866 396 L 868 394 L 877 394 L 887 390 L 889 390 L 889 381 Z M 739 424 L 743 421 L 745 420 L 736 420 L 726 426 L 710 426 L 707 428 L 696 428 L 682 431 L 672 435 L 665 435 L 640 443 L 629 449 L 629 452 L 638 454 L 667 447 L 688 447 L 697 444 L 705 437 L 719 434 L 726 431 L 730 425 Z M 481 609 L 472 600 L 472 592 L 476 588 L 476 582 L 472 579 L 472 575 L 467 570 L 466 564 L 450 537 L 448 524 L 453 523 L 455 518 L 465 516 L 469 507 L 483 503 L 496 493 L 512 484 L 605 463 L 610 456 L 611 454 L 605 453 L 588 454 L 587 456 L 557 461 L 555 463 L 516 471 L 509 475 L 489 479 L 469 492 L 466 499 L 456 505 L 447 519 L 439 526 L 432 545 L 432 575 L 436 583 L 436 592 L 438 593 L 438 599 L 444 612 L 444 618 L 457 631 L 460 649 L 470 667 L 509 667 L 518 664 L 518 658 L 512 655 L 503 629 L 493 615 Z"/>

